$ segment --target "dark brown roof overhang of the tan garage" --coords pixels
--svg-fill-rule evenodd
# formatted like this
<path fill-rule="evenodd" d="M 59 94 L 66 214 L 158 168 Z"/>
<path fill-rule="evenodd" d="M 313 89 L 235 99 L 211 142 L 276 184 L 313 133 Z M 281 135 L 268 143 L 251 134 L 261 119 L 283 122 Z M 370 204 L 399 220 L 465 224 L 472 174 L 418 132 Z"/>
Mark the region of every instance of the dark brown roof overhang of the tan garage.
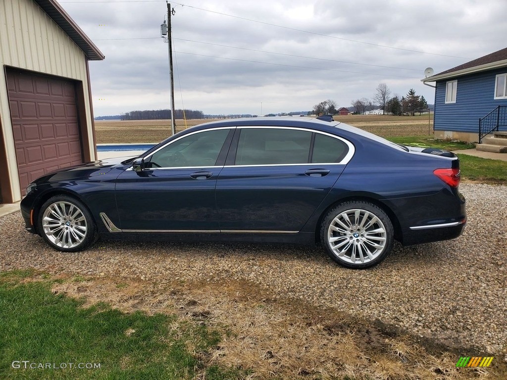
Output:
<path fill-rule="evenodd" d="M 102 52 L 55 0 L 33 0 L 85 53 L 89 61 L 104 59 Z"/>

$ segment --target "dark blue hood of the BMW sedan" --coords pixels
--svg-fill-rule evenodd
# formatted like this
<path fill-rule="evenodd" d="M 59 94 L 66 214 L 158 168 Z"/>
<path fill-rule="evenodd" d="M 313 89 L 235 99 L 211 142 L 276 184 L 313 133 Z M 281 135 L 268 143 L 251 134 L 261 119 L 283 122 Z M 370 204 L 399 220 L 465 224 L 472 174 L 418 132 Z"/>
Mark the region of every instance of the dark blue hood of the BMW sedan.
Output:
<path fill-rule="evenodd" d="M 69 166 L 48 173 L 37 180 L 40 181 L 62 181 L 75 179 L 88 179 L 96 176 L 108 176 L 113 169 L 125 170 L 130 166 L 125 157 L 98 160 L 81 165 Z M 122 163 L 123 162 L 123 163 Z M 116 175 L 118 175 L 117 173 Z"/>

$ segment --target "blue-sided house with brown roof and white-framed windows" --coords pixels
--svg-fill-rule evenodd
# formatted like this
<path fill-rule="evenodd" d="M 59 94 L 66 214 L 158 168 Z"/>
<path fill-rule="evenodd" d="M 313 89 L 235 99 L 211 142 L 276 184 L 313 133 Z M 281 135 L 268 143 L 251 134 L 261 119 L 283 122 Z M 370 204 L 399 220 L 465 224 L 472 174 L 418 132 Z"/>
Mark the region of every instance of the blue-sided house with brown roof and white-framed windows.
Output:
<path fill-rule="evenodd" d="M 480 150 L 507 153 L 507 48 L 422 82 L 436 82 L 435 138 L 482 142 Z"/>

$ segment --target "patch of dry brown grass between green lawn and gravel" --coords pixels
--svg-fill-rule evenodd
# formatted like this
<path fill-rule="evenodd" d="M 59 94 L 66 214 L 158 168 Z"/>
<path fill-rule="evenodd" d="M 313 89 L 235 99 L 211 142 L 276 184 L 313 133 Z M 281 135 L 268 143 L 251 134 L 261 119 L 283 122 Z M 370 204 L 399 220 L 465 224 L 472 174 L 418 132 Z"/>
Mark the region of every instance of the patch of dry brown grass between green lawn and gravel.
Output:
<path fill-rule="evenodd" d="M 205 324 L 220 331 L 223 339 L 211 352 L 196 350 L 191 340 L 189 351 L 207 365 L 250 370 L 250 379 L 500 378 L 492 368 L 458 369 L 456 353 L 430 353 L 409 335 L 389 337 L 392 333 L 365 321 L 275 298 L 246 282 L 158 285 L 103 277 L 62 280 L 53 292 L 84 298 L 85 306 L 104 301 L 124 312 L 175 314 L 177 320 L 170 326 L 175 333 L 182 324 Z"/>

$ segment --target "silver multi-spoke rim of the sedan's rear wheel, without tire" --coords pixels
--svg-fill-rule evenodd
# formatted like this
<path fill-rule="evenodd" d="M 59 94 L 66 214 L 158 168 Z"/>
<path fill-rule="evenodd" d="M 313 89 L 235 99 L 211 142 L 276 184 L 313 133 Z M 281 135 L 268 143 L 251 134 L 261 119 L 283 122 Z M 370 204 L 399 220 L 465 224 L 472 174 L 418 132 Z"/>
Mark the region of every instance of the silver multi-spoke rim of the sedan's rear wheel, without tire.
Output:
<path fill-rule="evenodd" d="M 338 214 L 329 225 L 328 244 L 335 256 L 347 263 L 375 260 L 385 249 L 386 228 L 367 210 L 351 209 Z"/>

